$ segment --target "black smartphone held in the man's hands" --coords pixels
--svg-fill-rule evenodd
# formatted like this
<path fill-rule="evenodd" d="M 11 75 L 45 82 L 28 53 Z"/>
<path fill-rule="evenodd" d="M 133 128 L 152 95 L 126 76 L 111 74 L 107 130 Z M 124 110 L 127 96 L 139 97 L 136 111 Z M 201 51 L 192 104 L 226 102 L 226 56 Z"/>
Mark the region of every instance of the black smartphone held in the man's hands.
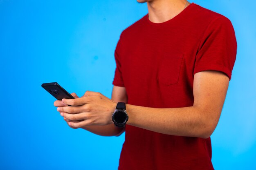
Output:
<path fill-rule="evenodd" d="M 57 100 L 62 99 L 74 99 L 70 93 L 68 93 L 63 87 L 61 87 L 58 83 L 43 83 L 41 85 L 46 91 L 48 91 L 53 97 Z"/>

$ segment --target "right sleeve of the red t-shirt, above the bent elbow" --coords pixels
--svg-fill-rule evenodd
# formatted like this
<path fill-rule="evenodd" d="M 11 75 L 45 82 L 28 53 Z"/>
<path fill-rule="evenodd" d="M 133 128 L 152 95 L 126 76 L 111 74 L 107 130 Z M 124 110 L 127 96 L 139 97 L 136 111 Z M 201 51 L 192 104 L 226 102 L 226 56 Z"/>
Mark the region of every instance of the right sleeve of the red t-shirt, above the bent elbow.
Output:
<path fill-rule="evenodd" d="M 194 74 L 215 70 L 225 73 L 229 80 L 236 60 L 236 36 L 228 18 L 214 19 L 204 32 L 195 57 Z"/>

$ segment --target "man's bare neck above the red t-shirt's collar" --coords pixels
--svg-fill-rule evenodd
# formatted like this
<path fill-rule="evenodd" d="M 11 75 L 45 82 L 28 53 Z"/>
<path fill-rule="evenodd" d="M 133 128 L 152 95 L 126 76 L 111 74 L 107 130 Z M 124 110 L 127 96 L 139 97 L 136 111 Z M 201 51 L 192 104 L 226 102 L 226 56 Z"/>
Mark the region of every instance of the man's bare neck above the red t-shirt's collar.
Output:
<path fill-rule="evenodd" d="M 161 23 L 171 20 L 185 7 L 186 0 L 153 0 L 148 4 L 148 19 L 151 22 Z M 187 3 L 187 6 L 190 3 Z"/>

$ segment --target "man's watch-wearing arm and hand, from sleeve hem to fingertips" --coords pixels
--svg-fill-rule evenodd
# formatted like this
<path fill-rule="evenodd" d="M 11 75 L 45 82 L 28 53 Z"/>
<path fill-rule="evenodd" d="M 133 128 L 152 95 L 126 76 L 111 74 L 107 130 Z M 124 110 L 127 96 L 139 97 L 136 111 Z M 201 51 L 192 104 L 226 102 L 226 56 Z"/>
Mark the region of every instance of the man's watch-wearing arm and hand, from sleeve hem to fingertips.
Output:
<path fill-rule="evenodd" d="M 127 124 L 167 135 L 208 138 L 218 124 L 228 85 L 229 77 L 222 72 L 198 72 L 194 75 L 193 106 L 149 108 L 127 104 Z M 69 122 L 73 127 L 92 124 L 114 126 L 111 115 L 116 103 L 101 93 L 87 91 L 84 97 L 63 99 L 63 102 L 72 107 L 57 110 L 63 117 L 73 120 Z M 77 120 L 82 121 L 74 122 Z M 114 130 L 111 132 L 108 135 L 118 133 Z"/>

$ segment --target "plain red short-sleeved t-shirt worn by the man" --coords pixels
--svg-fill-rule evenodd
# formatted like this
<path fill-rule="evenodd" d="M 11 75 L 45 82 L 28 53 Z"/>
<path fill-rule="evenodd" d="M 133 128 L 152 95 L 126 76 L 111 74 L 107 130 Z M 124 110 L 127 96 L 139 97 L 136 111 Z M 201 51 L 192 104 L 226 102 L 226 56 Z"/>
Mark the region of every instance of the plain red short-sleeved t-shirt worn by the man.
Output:
<path fill-rule="evenodd" d="M 195 3 L 162 23 L 150 22 L 147 14 L 121 33 L 112 84 L 126 88 L 128 104 L 193 106 L 194 74 L 216 70 L 231 79 L 236 49 L 229 19 Z M 212 169 L 210 138 L 165 135 L 126 125 L 119 170 Z"/>

